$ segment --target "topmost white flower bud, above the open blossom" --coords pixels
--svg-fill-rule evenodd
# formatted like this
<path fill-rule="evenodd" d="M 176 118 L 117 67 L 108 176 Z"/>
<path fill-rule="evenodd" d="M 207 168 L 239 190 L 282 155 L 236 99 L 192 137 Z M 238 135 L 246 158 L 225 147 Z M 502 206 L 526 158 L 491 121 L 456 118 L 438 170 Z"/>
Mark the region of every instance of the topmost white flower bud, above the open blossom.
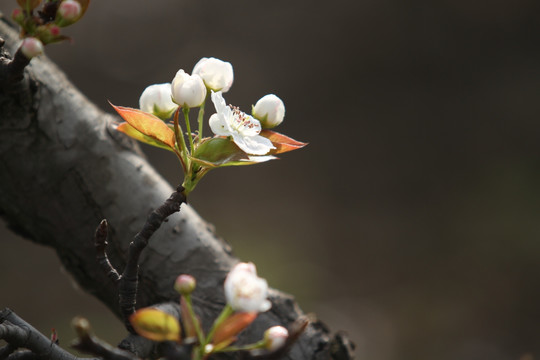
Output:
<path fill-rule="evenodd" d="M 202 58 L 193 68 L 193 74 L 199 75 L 206 87 L 226 93 L 232 86 L 234 73 L 229 62 L 216 58 Z"/>

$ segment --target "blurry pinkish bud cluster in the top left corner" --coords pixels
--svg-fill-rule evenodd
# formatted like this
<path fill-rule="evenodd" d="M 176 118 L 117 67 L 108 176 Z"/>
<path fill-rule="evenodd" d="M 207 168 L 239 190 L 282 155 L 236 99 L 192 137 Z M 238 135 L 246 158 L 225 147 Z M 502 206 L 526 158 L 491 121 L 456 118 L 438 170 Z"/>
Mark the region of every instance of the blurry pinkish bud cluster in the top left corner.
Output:
<path fill-rule="evenodd" d="M 29 59 L 43 53 L 44 45 L 63 41 L 60 28 L 79 21 L 90 0 L 17 0 L 11 18 L 20 25 L 22 53 Z M 40 7 L 41 5 L 41 7 Z M 39 9 L 38 9 L 39 8 Z"/>

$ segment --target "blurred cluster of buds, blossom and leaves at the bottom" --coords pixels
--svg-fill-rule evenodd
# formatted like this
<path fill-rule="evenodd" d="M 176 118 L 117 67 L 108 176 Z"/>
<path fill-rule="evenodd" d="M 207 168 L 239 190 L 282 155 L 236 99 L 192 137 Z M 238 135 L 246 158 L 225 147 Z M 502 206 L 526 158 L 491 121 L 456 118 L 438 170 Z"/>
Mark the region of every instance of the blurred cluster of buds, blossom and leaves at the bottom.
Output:
<path fill-rule="evenodd" d="M 191 294 L 195 287 L 195 278 L 186 274 L 178 276 L 174 283 L 175 290 L 181 295 L 182 326 L 176 318 L 167 313 L 144 308 L 130 318 L 135 331 L 154 341 L 194 343 L 195 346 L 191 348 L 192 358 L 196 360 L 206 359 L 211 354 L 235 350 L 270 354 L 283 351 L 290 345 L 289 332 L 280 325 L 267 329 L 263 338 L 256 343 L 240 347 L 234 345 L 237 336 L 256 319 L 258 313 L 267 311 L 271 306 L 267 299 L 266 280 L 257 276 L 253 263 L 239 263 L 227 275 L 224 283 L 227 305 L 215 319 L 208 334 L 203 332 L 200 319 L 193 310 Z M 298 334 L 304 328 L 301 328 Z M 181 329 L 184 329 L 184 334 L 181 334 Z"/>

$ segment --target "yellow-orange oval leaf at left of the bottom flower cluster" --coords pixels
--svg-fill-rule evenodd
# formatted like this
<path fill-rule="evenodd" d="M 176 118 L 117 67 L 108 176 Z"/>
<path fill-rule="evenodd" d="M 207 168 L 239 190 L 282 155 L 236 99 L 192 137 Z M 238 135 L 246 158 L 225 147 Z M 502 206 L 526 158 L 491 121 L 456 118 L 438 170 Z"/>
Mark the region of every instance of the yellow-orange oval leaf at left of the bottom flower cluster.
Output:
<path fill-rule="evenodd" d="M 154 341 L 180 341 L 180 323 L 161 310 L 144 308 L 129 317 L 137 334 Z"/>

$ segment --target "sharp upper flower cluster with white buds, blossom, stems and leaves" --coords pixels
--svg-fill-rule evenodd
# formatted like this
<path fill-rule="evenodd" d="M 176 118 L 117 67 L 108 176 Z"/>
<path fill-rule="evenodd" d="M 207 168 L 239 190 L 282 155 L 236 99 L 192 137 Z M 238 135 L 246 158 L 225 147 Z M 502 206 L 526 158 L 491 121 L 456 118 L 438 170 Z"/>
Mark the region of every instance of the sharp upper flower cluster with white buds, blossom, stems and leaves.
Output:
<path fill-rule="evenodd" d="M 268 94 L 259 99 L 252 106 L 251 115 L 227 105 L 223 94 L 233 82 L 234 71 L 229 62 L 202 58 L 191 74 L 180 69 L 170 84 L 155 84 L 144 89 L 139 99 L 140 109 L 113 105 L 126 121 L 117 129 L 136 140 L 174 152 L 184 170 L 182 186 L 186 195 L 211 169 L 265 162 L 276 159 L 277 154 L 306 145 L 270 130 L 285 117 L 285 105 L 276 95 Z M 208 98 L 216 109 L 208 120 L 213 137 L 203 136 Z M 199 108 L 195 132 L 189 120 L 193 108 Z M 179 121 L 180 113 L 184 115 L 186 132 Z M 162 123 L 171 117 L 173 124 Z"/>

